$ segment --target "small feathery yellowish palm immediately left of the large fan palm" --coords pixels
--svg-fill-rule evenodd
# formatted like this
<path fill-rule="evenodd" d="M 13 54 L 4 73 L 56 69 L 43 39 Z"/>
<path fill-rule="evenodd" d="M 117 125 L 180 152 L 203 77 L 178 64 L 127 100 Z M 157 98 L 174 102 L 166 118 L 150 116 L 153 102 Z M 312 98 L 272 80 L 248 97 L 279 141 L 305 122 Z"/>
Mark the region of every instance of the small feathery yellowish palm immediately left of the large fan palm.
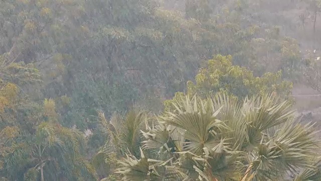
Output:
<path fill-rule="evenodd" d="M 138 106 L 132 107 L 125 115 L 115 112 L 110 120 L 98 111 L 99 126 L 106 136 L 106 143 L 94 155 L 92 163 L 97 170 L 106 169 L 102 177 L 110 175 L 117 166 L 117 159 L 127 152 L 135 157 L 140 156 L 139 147 L 143 141 L 140 130 L 145 127 L 146 115 L 146 111 Z"/>

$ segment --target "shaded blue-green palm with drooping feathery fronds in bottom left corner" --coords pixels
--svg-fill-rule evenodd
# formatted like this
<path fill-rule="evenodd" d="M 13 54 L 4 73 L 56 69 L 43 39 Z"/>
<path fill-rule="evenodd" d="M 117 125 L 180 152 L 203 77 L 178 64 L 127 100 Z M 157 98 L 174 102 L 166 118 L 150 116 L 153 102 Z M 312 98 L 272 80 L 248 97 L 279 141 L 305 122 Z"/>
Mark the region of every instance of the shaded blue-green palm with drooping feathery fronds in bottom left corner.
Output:
<path fill-rule="evenodd" d="M 10 180 L 96 180 L 84 146 L 78 130 L 42 122 L 35 134 L 17 136 L 4 154 L 3 171 Z"/>

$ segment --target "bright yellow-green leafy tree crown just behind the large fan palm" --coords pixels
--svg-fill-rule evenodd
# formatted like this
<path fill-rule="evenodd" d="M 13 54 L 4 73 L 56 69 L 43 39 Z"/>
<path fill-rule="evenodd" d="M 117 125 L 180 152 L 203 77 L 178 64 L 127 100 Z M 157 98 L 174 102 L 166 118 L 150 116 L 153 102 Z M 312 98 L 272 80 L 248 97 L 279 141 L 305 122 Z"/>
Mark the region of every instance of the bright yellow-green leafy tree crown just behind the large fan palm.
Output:
<path fill-rule="evenodd" d="M 286 98 L 291 93 L 292 83 L 282 79 L 282 72 L 267 72 L 261 77 L 255 77 L 253 72 L 232 64 L 232 56 L 216 55 L 201 68 L 195 76 L 195 83 L 188 81 L 187 95 L 195 94 L 206 98 L 218 92 L 235 96 L 240 101 L 246 96 L 273 93 Z M 176 93 L 173 101 L 181 99 L 183 93 Z M 165 102 L 166 109 L 171 107 L 171 100 Z M 173 108 L 173 107 L 172 107 Z"/>

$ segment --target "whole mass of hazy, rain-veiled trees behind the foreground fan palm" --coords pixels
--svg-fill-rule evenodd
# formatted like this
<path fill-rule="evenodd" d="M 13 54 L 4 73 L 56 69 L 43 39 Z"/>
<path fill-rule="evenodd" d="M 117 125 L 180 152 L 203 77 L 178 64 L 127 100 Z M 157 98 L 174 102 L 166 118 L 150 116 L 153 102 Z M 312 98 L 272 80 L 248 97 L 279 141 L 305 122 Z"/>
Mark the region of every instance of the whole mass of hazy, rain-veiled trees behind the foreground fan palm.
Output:
<path fill-rule="evenodd" d="M 111 141 L 101 136 L 96 109 L 105 113 L 106 129 L 112 125 L 108 120 L 139 122 L 134 131 L 127 126 L 116 134 L 137 138 L 137 130 L 146 127 L 146 113 L 128 112 L 133 103 L 157 113 L 166 100 L 167 110 L 175 110 L 171 102 L 183 93 L 205 98 L 225 92 L 242 102 L 265 92 L 288 99 L 291 82 L 317 86 L 317 78 L 311 78 L 319 71 L 317 1 L 177 1 L 171 9 L 165 8 L 168 3 L 173 1 L 2 1 L 4 179 L 91 180 L 95 171 L 99 177 L 114 176 L 109 173 L 115 167 L 107 173 L 101 167 L 116 163 L 120 155 L 106 158 L 112 164 L 99 163 L 96 170 L 88 162 L 93 155 L 105 158 L 103 148 Z M 309 16 L 314 10 L 316 16 Z M 311 57 L 308 49 L 315 49 Z M 316 60 L 307 62 L 307 57 Z M 109 118 L 114 111 L 128 115 Z M 129 147 L 139 158 L 140 141 L 116 147 L 121 156 Z M 21 167 L 8 170 L 9 158 Z"/>

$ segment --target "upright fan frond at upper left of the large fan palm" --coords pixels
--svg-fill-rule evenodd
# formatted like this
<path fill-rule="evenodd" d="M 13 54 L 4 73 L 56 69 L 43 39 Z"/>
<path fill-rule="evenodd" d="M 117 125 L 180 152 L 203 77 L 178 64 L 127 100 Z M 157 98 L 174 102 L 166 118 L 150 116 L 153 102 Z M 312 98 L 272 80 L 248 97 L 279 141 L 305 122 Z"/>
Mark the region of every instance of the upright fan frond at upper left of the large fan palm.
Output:
<path fill-rule="evenodd" d="M 198 102 L 196 97 L 192 100 L 187 97 L 183 106 L 174 106 L 179 114 L 164 117 L 163 122 L 185 131 L 184 137 L 188 141 L 184 149 L 193 153 L 202 155 L 203 148 L 215 144 L 216 134 L 226 128 L 223 122 L 216 119 L 220 109 L 213 113 L 211 102 Z"/>

